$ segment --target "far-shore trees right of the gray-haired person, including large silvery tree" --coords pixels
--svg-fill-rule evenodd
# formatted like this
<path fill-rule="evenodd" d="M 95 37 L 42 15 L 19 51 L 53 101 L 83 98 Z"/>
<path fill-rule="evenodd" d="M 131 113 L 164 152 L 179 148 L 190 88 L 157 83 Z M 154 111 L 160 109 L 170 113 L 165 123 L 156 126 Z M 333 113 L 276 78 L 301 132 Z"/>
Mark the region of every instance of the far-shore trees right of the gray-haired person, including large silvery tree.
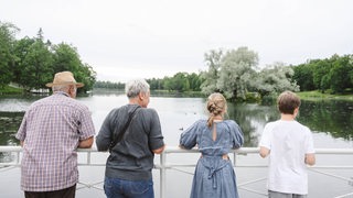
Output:
<path fill-rule="evenodd" d="M 353 56 L 286 65 L 280 62 L 258 66 L 258 55 L 247 47 L 212 50 L 204 55 L 207 69 L 199 74 L 176 73 L 172 77 L 147 79 L 151 90 L 222 92 L 232 100 L 261 99 L 284 90 L 353 91 Z M 124 84 L 120 84 L 124 87 Z"/>

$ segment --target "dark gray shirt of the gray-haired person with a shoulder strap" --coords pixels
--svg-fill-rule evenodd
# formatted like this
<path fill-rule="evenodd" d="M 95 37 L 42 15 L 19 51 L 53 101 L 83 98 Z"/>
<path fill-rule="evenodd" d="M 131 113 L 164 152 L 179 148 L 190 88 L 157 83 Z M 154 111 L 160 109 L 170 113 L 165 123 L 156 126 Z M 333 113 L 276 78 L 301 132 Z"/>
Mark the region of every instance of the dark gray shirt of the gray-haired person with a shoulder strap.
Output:
<path fill-rule="evenodd" d="M 115 131 L 121 132 L 129 114 L 136 108 L 137 105 L 126 105 L 109 112 L 96 138 L 98 151 L 109 148 L 116 136 Z M 122 140 L 111 150 L 107 158 L 106 177 L 127 180 L 151 179 L 154 158 L 152 150 L 163 145 L 157 111 L 149 108 L 138 108 Z"/>

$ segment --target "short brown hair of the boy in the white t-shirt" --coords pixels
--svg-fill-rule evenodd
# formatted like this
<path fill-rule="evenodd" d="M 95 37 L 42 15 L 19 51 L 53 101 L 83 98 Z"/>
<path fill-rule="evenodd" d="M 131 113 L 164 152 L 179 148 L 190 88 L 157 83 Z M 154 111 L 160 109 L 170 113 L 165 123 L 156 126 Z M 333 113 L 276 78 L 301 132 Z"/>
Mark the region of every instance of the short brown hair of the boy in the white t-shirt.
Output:
<path fill-rule="evenodd" d="M 292 91 L 284 91 L 277 99 L 278 110 L 284 114 L 293 114 L 300 107 L 300 98 Z"/>

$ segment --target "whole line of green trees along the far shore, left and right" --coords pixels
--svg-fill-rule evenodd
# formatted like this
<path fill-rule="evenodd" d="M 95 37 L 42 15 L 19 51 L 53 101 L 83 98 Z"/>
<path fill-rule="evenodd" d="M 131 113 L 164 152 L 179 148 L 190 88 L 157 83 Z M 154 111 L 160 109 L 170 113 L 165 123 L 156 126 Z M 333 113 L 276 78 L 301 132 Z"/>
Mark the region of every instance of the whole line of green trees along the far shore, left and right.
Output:
<path fill-rule="evenodd" d="M 0 22 L 0 88 L 17 82 L 25 90 L 45 88 L 53 74 L 71 70 L 82 91 L 93 87 L 124 88 L 124 84 L 96 81 L 93 67 L 83 63 L 77 50 L 66 43 L 44 41 L 40 29 L 35 37 L 15 38 L 19 29 Z M 353 90 L 353 55 L 309 59 L 299 65 L 277 62 L 258 66 L 258 54 L 245 46 L 212 50 L 204 54 L 205 70 L 176 73 L 172 77 L 147 79 L 152 90 L 222 92 L 228 99 L 263 98 L 284 90 L 321 90 L 343 94 Z"/>

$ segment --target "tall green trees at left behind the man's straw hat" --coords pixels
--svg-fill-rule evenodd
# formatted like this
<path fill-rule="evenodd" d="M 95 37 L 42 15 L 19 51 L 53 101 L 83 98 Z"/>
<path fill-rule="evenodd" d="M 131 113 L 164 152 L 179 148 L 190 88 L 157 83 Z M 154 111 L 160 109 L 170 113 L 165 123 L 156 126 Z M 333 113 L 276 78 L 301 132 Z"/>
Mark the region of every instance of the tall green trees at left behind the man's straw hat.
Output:
<path fill-rule="evenodd" d="M 0 21 L 0 88 L 15 82 L 24 90 L 46 88 L 53 74 L 71 70 L 77 81 L 85 84 L 79 91 L 93 88 L 96 73 L 81 61 L 77 50 L 66 43 L 44 41 L 42 29 L 35 37 L 17 40 L 20 31 L 11 23 Z"/>

